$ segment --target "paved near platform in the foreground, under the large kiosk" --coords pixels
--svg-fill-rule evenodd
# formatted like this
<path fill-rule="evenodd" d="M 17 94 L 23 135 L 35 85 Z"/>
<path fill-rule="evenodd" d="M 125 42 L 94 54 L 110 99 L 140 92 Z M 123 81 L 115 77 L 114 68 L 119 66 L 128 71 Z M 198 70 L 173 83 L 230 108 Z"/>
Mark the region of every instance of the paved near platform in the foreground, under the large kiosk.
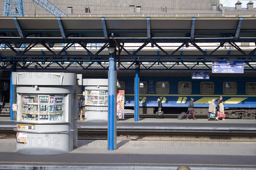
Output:
<path fill-rule="evenodd" d="M 11 139 L 10 139 L 11 140 Z M 78 148 L 59 155 L 22 155 L 15 142 L 1 140 L 1 170 L 255 170 L 254 142 L 125 141 L 109 151 L 101 140 L 79 140 Z"/>

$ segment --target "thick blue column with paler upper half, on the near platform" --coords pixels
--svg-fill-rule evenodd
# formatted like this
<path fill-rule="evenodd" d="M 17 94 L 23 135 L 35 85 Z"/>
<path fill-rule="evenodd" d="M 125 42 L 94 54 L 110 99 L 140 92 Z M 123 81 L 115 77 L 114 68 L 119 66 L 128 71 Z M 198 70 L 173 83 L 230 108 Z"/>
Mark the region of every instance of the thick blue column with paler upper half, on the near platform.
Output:
<path fill-rule="evenodd" d="M 108 68 L 108 150 L 116 149 L 116 63 L 114 53 L 109 54 Z"/>

